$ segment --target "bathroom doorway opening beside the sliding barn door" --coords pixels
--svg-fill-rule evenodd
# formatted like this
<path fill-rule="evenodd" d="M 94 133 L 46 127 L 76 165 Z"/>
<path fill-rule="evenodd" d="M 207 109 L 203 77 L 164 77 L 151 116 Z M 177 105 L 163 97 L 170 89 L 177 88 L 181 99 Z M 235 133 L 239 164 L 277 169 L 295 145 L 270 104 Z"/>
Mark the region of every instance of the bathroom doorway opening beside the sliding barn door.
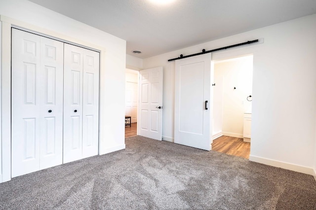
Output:
<path fill-rule="evenodd" d="M 253 55 L 214 62 L 212 150 L 249 159 Z"/>

